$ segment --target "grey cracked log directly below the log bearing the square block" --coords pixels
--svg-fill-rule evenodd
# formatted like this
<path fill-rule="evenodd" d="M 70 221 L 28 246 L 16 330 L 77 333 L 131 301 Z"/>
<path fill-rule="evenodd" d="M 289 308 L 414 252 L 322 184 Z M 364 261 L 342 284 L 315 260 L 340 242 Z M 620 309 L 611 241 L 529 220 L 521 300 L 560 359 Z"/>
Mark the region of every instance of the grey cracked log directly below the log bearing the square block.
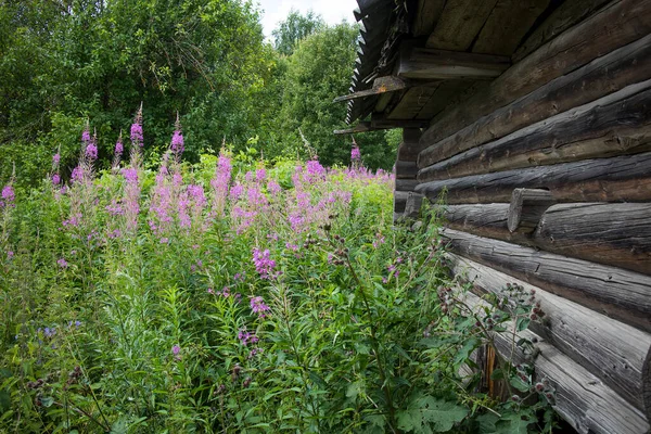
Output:
<path fill-rule="evenodd" d="M 503 241 L 444 229 L 452 253 L 572 299 L 643 331 L 651 331 L 651 279 Z"/>

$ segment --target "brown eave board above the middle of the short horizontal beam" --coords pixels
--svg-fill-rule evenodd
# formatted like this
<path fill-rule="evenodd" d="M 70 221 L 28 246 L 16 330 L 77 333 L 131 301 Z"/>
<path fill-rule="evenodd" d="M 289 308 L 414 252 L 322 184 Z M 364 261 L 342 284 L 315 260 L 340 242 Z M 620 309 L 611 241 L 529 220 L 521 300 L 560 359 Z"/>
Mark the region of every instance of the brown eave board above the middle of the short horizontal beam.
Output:
<path fill-rule="evenodd" d="M 438 24 L 427 38 L 427 48 L 465 51 L 490 15 L 497 0 L 448 0 Z"/>

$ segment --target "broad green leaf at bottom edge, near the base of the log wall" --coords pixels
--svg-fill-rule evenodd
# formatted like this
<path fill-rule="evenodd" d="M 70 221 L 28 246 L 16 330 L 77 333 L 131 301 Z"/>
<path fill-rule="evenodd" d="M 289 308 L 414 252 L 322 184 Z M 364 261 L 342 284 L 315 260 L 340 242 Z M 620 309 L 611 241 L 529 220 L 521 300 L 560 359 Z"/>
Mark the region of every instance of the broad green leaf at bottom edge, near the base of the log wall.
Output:
<path fill-rule="evenodd" d="M 432 396 L 412 399 L 406 410 L 398 412 L 398 429 L 414 433 L 445 433 L 468 416 L 468 408 Z"/>

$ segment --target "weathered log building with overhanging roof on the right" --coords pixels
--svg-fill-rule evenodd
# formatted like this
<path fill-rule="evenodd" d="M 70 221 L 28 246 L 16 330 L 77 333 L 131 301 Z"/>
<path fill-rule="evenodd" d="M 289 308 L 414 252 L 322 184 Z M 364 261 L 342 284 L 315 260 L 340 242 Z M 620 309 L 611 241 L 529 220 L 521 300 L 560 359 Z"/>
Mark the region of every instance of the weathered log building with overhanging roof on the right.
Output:
<path fill-rule="evenodd" d="M 649 432 L 651 0 L 358 3 L 386 36 L 362 27 L 347 120 L 404 128 L 395 218 L 445 193 L 452 271 L 541 301 L 526 333 L 557 411 Z"/>

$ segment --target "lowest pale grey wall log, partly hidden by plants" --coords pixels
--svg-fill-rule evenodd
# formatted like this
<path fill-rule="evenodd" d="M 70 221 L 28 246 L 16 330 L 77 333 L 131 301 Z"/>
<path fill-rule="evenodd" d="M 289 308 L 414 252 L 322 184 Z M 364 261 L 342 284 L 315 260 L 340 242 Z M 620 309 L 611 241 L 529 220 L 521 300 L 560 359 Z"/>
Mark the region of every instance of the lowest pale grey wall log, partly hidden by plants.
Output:
<path fill-rule="evenodd" d="M 481 312 L 482 301 L 467 294 L 465 304 Z M 513 326 L 510 324 L 510 330 Z M 552 344 L 529 330 L 515 333 L 495 333 L 497 350 L 513 363 L 526 363 L 526 355 L 513 341 L 536 341 L 539 349 L 535 359 L 535 381 L 547 379 L 554 393 L 554 410 L 582 434 L 640 434 L 647 433 L 649 422 L 644 414 Z"/>

